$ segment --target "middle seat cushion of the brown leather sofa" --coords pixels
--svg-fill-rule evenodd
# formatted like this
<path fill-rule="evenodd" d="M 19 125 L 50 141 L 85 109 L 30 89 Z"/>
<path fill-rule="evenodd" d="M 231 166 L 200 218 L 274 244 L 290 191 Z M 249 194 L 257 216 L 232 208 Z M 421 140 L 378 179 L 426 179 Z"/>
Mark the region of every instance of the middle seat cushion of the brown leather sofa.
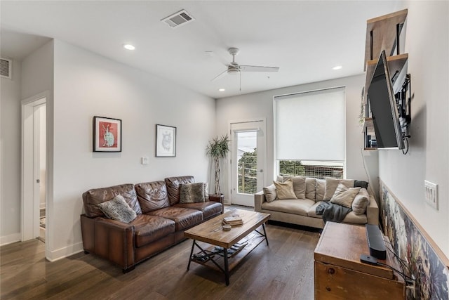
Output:
<path fill-rule="evenodd" d="M 185 230 L 203 221 L 203 213 L 201 211 L 185 207 L 166 207 L 150 211 L 148 214 L 175 221 L 176 231 Z"/>

